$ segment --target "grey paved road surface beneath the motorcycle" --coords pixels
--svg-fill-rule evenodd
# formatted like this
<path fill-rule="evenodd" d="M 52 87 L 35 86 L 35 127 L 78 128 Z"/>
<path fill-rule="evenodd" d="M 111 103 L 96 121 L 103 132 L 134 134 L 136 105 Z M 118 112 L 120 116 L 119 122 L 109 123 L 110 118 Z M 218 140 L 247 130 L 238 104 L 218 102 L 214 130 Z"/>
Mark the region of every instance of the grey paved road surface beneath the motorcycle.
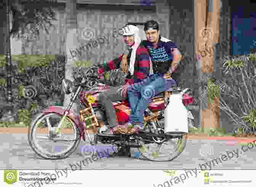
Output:
<path fill-rule="evenodd" d="M 45 160 L 38 157 L 30 148 L 27 134 L 1 134 L 0 141 L 2 150 L 0 169 L 17 169 L 17 170 L 54 170 L 54 169 L 70 169 L 69 164 L 80 163 L 83 160 L 79 150 L 76 150 L 69 158 L 63 160 Z M 81 141 L 80 145 L 89 145 Z M 110 157 L 97 160 L 94 163 L 89 163 L 82 169 L 195 169 L 199 168 L 199 164 L 211 162 L 226 154 L 226 151 L 241 151 L 240 145 L 226 145 L 223 140 L 188 140 L 184 152 L 171 162 L 151 162 L 134 158 L 132 149 L 132 157 Z M 207 154 L 208 152 L 208 154 Z M 205 156 L 204 156 L 205 155 Z M 212 169 L 255 169 L 256 162 L 256 147 L 245 152 L 238 159 L 231 159 L 219 162 L 218 166 L 211 164 Z M 202 166 L 203 167 L 203 166 Z"/>

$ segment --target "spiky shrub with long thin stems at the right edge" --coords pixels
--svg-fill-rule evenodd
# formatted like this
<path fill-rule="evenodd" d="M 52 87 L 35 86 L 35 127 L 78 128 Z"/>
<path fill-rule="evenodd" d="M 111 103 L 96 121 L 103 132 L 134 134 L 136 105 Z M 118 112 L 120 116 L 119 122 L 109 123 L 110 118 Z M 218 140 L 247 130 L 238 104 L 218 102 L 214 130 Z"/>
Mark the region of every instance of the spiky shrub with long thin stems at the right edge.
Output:
<path fill-rule="evenodd" d="M 224 88 L 219 94 L 219 108 L 234 121 L 237 134 L 256 131 L 256 58 L 255 54 L 224 59 Z M 244 135 L 243 135 L 244 136 Z"/>

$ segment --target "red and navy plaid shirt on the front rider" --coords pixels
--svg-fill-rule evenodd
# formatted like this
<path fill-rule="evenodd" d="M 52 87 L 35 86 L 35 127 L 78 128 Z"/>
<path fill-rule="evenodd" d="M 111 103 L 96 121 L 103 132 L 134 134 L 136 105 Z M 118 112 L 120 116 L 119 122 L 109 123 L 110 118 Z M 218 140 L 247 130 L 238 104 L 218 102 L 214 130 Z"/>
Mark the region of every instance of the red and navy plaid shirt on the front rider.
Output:
<path fill-rule="evenodd" d="M 129 55 L 130 56 L 130 55 Z M 118 58 L 104 63 L 103 70 L 110 71 L 113 69 L 119 69 L 121 65 L 123 55 Z M 130 60 L 129 60 L 130 63 Z M 146 47 L 140 45 L 136 50 L 136 59 L 134 62 L 134 73 L 133 76 L 127 76 L 125 79 L 125 84 L 132 85 L 134 83 L 141 82 L 145 79 L 150 72 L 150 55 Z"/>

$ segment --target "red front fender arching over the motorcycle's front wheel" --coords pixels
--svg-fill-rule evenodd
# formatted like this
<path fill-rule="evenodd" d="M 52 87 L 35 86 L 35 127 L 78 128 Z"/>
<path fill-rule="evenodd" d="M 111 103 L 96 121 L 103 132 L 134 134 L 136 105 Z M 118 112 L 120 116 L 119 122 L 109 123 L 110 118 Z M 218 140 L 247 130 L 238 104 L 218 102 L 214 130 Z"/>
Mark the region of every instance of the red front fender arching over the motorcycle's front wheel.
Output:
<path fill-rule="evenodd" d="M 50 106 L 49 108 L 44 109 L 43 113 L 58 113 L 60 115 L 64 115 L 66 109 L 67 107 L 64 106 Z M 70 109 L 67 116 L 74 121 L 75 125 L 79 128 L 80 135 L 83 136 L 84 128 L 80 123 L 79 114 Z"/>

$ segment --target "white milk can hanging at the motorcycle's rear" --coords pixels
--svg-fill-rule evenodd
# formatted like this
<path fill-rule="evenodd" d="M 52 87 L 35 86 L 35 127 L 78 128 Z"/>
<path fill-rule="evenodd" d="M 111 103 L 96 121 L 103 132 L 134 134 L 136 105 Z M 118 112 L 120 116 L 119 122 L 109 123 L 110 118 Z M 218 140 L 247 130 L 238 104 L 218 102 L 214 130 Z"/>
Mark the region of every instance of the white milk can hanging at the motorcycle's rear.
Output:
<path fill-rule="evenodd" d="M 182 103 L 183 94 L 189 90 L 184 89 L 181 93 L 171 94 L 169 104 L 165 109 L 165 134 L 184 134 L 189 132 L 188 113 Z"/>

